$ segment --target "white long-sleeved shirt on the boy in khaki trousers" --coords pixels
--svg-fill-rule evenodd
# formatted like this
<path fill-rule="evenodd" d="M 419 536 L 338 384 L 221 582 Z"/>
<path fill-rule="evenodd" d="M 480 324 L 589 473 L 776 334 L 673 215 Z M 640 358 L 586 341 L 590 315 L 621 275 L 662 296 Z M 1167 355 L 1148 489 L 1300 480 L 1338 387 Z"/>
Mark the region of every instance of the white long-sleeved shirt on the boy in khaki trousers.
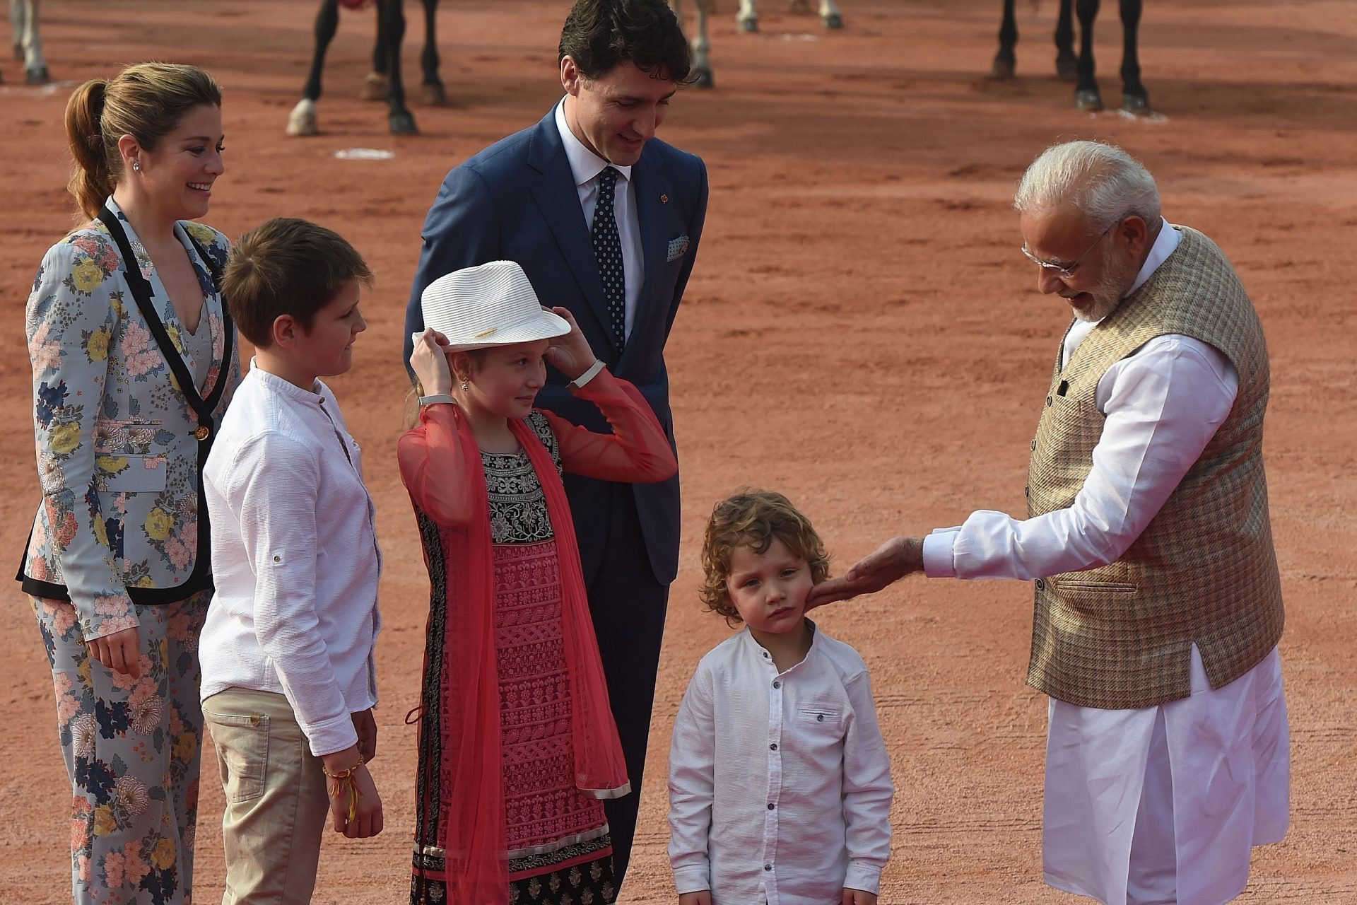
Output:
<path fill-rule="evenodd" d="M 251 362 L 202 472 L 217 593 L 202 627 L 202 699 L 285 695 L 318 757 L 358 741 L 377 703 L 381 552 L 358 444 L 334 393 Z"/>

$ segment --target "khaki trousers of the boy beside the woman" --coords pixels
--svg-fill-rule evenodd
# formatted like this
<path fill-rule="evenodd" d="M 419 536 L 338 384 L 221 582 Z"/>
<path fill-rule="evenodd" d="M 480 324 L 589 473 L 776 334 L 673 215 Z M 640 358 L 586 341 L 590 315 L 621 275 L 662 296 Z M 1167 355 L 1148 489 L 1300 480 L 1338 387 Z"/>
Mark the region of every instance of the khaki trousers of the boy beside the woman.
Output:
<path fill-rule="evenodd" d="M 202 701 L 227 807 L 221 905 L 307 905 L 316 886 L 330 798 L 282 695 L 228 688 Z"/>

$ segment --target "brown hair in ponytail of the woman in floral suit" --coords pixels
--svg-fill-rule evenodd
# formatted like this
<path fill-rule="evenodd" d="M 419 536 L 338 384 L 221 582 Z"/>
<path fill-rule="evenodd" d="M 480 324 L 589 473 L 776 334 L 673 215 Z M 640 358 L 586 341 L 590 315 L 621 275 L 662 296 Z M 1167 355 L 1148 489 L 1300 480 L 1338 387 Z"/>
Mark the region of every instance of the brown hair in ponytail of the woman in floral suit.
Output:
<path fill-rule="evenodd" d="M 122 175 L 118 138 L 147 151 L 175 130 L 194 107 L 221 106 L 221 88 L 198 66 L 138 62 L 110 79 L 91 79 L 66 102 L 66 142 L 76 159 L 71 194 L 91 220 Z"/>

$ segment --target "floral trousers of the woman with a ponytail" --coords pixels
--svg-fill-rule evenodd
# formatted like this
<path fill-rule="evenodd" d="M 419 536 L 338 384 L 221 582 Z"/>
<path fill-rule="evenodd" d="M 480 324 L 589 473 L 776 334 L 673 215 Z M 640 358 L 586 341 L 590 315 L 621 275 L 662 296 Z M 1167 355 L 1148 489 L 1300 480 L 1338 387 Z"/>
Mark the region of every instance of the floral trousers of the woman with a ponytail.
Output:
<path fill-rule="evenodd" d="M 75 608 L 33 597 L 71 777 L 76 905 L 191 905 L 198 811 L 198 632 L 212 592 L 137 606 L 141 677 L 88 655 Z"/>

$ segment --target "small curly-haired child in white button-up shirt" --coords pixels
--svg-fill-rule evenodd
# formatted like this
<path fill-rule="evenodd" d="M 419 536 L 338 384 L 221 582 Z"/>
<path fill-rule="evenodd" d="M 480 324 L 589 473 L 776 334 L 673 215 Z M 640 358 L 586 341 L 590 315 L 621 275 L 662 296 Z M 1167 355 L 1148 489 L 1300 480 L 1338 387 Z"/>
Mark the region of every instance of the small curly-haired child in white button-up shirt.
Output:
<path fill-rule="evenodd" d="M 716 505 L 707 608 L 745 630 L 693 673 L 669 748 L 680 905 L 874 905 L 890 856 L 890 758 L 867 668 L 805 616 L 824 543 L 782 494 Z"/>

